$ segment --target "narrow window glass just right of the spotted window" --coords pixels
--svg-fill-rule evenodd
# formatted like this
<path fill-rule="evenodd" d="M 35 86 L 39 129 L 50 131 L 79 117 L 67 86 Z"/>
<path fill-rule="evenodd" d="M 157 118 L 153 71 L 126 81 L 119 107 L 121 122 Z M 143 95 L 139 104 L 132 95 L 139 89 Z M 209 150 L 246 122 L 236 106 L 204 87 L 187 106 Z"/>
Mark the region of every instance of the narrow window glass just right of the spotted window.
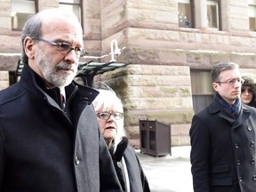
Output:
<path fill-rule="evenodd" d="M 219 4 L 217 1 L 207 0 L 208 28 L 219 28 Z"/>

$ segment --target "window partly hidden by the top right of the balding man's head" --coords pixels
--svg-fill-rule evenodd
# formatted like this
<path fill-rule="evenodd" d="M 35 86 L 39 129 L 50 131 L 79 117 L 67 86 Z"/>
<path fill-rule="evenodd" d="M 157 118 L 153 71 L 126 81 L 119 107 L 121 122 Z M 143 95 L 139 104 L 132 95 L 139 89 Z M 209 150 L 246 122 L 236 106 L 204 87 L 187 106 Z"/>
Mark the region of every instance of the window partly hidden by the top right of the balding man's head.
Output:
<path fill-rule="evenodd" d="M 68 12 L 74 12 L 76 17 L 80 22 L 81 21 L 81 4 L 80 0 L 61 0 L 59 7 L 61 9 L 67 10 Z"/>

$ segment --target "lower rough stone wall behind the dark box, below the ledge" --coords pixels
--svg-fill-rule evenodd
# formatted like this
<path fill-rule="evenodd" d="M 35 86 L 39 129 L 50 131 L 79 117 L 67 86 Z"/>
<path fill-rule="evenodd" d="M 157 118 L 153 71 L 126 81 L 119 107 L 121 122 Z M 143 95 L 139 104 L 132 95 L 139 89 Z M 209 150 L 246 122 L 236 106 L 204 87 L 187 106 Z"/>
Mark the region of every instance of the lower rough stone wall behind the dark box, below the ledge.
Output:
<path fill-rule="evenodd" d="M 172 124 L 172 146 L 189 144 L 194 111 L 188 67 L 131 64 L 95 80 L 121 96 L 126 132 L 135 148 L 140 146 L 140 119 Z"/>

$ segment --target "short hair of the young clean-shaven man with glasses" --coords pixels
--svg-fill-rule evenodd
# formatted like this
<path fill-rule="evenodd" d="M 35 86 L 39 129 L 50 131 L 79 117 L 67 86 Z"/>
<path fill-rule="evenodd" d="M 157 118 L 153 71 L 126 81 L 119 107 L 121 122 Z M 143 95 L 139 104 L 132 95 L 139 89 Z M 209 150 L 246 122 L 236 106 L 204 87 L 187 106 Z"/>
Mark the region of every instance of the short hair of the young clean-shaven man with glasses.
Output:
<path fill-rule="evenodd" d="M 220 73 L 225 70 L 239 68 L 239 66 L 234 62 L 220 62 L 212 67 L 211 77 L 212 83 L 220 81 Z"/>

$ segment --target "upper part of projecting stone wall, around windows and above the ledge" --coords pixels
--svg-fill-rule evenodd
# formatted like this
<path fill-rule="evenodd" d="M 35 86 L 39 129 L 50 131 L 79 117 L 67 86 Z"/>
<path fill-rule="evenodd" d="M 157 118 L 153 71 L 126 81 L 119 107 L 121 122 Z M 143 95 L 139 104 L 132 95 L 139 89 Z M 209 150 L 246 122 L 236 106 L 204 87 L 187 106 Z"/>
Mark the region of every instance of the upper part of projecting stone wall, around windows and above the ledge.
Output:
<path fill-rule="evenodd" d="M 221 5 L 224 31 L 179 28 L 176 0 L 107 1 L 101 10 L 102 54 L 116 39 L 126 46 L 119 62 L 209 69 L 216 61 L 229 60 L 253 68 L 256 33 L 249 31 L 248 5 L 236 0 Z"/>

